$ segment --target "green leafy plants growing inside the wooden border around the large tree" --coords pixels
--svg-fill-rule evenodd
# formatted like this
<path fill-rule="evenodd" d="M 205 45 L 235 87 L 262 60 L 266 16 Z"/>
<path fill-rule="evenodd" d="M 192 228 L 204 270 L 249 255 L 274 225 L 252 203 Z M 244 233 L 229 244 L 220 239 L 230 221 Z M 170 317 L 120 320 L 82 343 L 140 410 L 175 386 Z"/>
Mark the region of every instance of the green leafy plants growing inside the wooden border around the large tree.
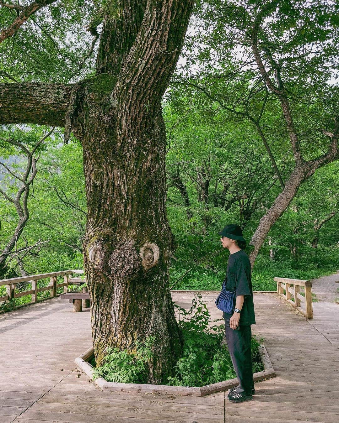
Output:
<path fill-rule="evenodd" d="M 200 387 L 235 378 L 228 348 L 222 344 L 225 326 L 215 324 L 222 319 L 211 320 L 200 294 L 195 295 L 189 310 L 174 305 L 183 336 L 183 352 L 173 368 L 172 376 L 160 383 Z M 150 336 L 145 341 L 138 342 L 131 351 L 108 348 L 104 364 L 94 368 L 94 378 L 103 377 L 108 382 L 152 383 L 147 370 L 155 355 L 154 341 Z M 262 339 L 252 338 L 253 373 L 263 370 L 258 355 L 261 341 Z M 95 363 L 92 364 L 95 366 Z"/>

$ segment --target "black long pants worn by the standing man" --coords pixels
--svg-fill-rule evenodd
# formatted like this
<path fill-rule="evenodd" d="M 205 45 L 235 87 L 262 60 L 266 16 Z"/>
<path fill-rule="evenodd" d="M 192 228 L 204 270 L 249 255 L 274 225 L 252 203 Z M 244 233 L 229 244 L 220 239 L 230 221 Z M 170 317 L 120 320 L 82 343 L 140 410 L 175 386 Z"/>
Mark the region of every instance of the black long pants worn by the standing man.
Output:
<path fill-rule="evenodd" d="M 237 392 L 250 395 L 252 387 L 254 387 L 252 373 L 251 327 L 240 326 L 239 330 L 234 330 L 227 327 L 225 324 L 225 336 L 233 367 L 236 371 L 236 377 L 239 380 Z"/>

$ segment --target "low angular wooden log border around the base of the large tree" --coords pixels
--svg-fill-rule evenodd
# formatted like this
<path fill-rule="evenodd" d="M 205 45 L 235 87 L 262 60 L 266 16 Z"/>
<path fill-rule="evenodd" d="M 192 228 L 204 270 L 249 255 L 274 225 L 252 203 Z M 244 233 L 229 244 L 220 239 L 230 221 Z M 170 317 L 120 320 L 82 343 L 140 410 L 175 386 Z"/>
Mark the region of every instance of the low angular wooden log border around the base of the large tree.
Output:
<path fill-rule="evenodd" d="M 269 377 L 275 376 L 275 371 L 272 366 L 269 355 L 264 345 L 258 346 L 258 352 L 260 355 L 261 362 L 264 365 L 264 370 L 254 373 L 253 379 L 255 382 Z M 88 363 L 91 357 L 93 357 L 94 350 L 89 348 L 74 361 L 81 368 L 81 370 L 89 376 L 94 383 L 100 387 L 101 390 L 110 390 L 111 392 L 135 392 L 135 393 L 163 393 L 163 394 L 175 394 L 175 395 L 188 395 L 188 396 L 205 396 L 212 393 L 220 392 L 236 386 L 239 382 L 238 379 L 228 379 L 223 382 L 213 383 L 202 387 L 190 387 L 190 386 L 171 386 L 171 385 L 151 385 L 151 384 L 140 384 L 140 383 L 114 383 L 107 382 L 105 379 L 99 377 L 93 379 L 93 366 Z"/>

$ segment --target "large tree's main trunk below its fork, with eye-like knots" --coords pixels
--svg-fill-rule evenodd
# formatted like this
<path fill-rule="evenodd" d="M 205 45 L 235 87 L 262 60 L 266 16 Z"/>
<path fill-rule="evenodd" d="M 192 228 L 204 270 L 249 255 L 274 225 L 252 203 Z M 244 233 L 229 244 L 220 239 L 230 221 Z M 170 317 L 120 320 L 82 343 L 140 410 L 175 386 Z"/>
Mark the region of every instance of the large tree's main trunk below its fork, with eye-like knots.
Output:
<path fill-rule="evenodd" d="M 181 352 L 168 286 L 171 235 L 160 104 L 147 132 L 138 139 L 123 137 L 119 148 L 114 148 L 117 128 L 99 119 L 94 126 L 86 118 L 85 124 L 95 128 L 81 140 L 88 205 L 84 260 L 97 363 L 107 345 L 132 348 L 153 335 L 150 380 L 160 382 Z"/>

